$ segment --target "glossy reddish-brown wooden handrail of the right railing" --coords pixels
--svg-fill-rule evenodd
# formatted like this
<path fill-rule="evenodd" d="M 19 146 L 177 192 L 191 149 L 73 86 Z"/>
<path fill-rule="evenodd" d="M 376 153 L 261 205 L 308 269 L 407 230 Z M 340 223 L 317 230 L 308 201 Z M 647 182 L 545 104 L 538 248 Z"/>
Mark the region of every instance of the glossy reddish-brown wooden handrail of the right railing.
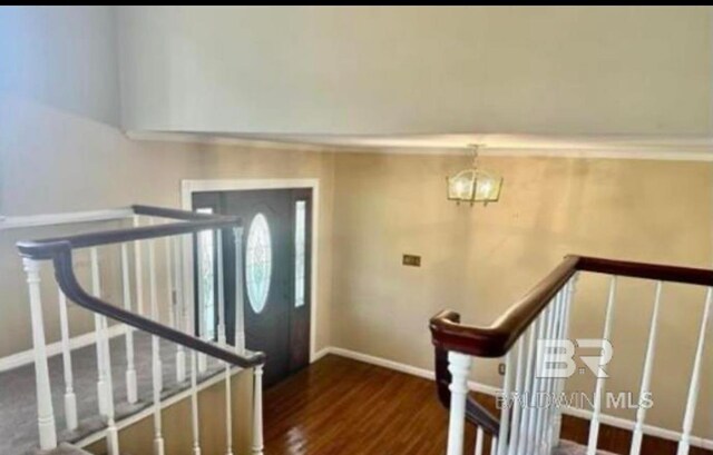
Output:
<path fill-rule="evenodd" d="M 440 311 L 429 323 L 433 345 L 477 357 L 504 356 L 579 270 L 713 286 L 713 270 L 709 269 L 570 255 L 490 326 L 460 324 L 456 311 Z"/>

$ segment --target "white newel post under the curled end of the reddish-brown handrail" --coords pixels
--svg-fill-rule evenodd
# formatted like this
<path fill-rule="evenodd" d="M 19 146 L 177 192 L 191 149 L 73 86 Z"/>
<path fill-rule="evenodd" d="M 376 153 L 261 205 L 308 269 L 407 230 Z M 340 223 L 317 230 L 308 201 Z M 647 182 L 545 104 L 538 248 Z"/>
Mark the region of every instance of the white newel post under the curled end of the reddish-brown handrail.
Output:
<path fill-rule="evenodd" d="M 447 455 L 462 455 L 463 434 L 466 431 L 466 399 L 468 395 L 468 373 L 470 372 L 470 356 L 449 352 L 448 370 L 450 382 L 450 418 L 448 422 Z"/>

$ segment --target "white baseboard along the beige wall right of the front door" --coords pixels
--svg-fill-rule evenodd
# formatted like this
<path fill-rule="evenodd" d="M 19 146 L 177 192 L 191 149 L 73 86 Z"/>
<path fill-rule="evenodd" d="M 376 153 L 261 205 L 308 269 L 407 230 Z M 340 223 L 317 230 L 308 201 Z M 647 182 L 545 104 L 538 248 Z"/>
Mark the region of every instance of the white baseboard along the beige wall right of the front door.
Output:
<path fill-rule="evenodd" d="M 436 374 L 431 369 L 419 368 L 412 365 L 402 364 L 400 362 L 391 360 L 383 357 L 377 357 L 369 354 L 359 353 L 355 350 L 344 349 L 341 347 L 326 347 L 319 352 L 319 356 L 316 358 L 322 358 L 328 354 L 338 355 L 340 357 L 351 358 L 353 360 L 363 362 L 365 364 L 377 365 L 383 368 L 393 369 L 395 372 L 406 373 L 408 375 L 422 377 L 424 379 L 434 380 Z M 477 383 L 475 380 L 468 382 L 468 388 L 473 392 L 482 393 L 486 395 L 495 396 L 500 389 L 498 387 L 494 387 L 487 384 Z M 592 419 L 592 412 L 586 409 L 579 409 L 574 407 L 568 407 L 563 411 L 564 414 L 570 415 L 574 417 L 584 418 L 586 421 Z M 612 415 L 602 414 L 599 416 L 599 422 L 605 425 L 609 425 L 616 428 L 633 431 L 635 423 L 632 421 L 627 421 L 625 418 L 615 417 Z M 681 441 L 681 433 L 672 429 L 666 429 L 653 425 L 644 425 L 644 434 L 647 436 L 660 437 L 662 439 L 668 439 L 678 442 Z M 713 439 L 706 439 L 702 437 L 692 436 L 691 437 L 691 446 L 705 448 L 707 451 L 713 451 Z"/>

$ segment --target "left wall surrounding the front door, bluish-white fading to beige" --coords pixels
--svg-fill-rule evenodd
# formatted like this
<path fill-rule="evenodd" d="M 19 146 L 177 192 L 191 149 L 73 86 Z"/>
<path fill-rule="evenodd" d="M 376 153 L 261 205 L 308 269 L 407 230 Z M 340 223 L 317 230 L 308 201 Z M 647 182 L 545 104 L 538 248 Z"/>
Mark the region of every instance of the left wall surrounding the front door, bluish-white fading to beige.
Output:
<path fill-rule="evenodd" d="M 182 179 L 320 179 L 316 348 L 329 345 L 333 159 L 330 154 L 172 142 L 137 142 L 118 130 L 14 97 L 0 99 L 0 212 L 55 214 L 140 202 L 180 206 Z M 0 356 L 30 348 L 30 318 L 19 257 L 20 238 L 66 229 L 0 230 L 2 319 Z M 87 268 L 85 263 L 81 267 Z M 111 269 L 110 269 L 111 270 Z M 118 279 L 118 269 L 109 274 Z M 107 277 L 107 280 L 109 277 Z M 56 291 L 46 280 L 48 340 L 59 337 Z M 108 283 L 108 281 L 107 281 Z M 109 287 L 110 288 L 110 287 Z M 108 296 L 108 298 L 110 295 Z M 79 308 L 71 311 L 84 314 Z M 84 319 L 82 319 L 84 318 Z M 80 320 L 84 320 L 81 323 Z M 89 329 L 77 318 L 75 334 Z"/>

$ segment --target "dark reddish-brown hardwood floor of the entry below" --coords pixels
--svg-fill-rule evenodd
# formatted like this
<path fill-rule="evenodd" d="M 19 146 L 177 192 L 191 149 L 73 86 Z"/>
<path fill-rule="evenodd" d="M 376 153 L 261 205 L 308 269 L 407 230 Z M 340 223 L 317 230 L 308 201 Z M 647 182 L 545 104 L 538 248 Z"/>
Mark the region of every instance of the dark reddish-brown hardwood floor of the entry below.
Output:
<path fill-rule="evenodd" d="M 492 407 L 491 397 L 478 396 Z M 338 356 L 326 356 L 265 392 L 270 455 L 442 455 L 448 414 L 434 383 Z M 563 436 L 586 443 L 587 422 L 565 416 Z M 602 427 L 600 448 L 628 454 L 629 432 Z M 475 431 L 466 434 L 472 452 Z M 486 441 L 484 454 L 489 452 Z M 675 444 L 645 438 L 643 455 L 675 454 Z M 711 455 L 691 451 L 691 455 Z"/>

